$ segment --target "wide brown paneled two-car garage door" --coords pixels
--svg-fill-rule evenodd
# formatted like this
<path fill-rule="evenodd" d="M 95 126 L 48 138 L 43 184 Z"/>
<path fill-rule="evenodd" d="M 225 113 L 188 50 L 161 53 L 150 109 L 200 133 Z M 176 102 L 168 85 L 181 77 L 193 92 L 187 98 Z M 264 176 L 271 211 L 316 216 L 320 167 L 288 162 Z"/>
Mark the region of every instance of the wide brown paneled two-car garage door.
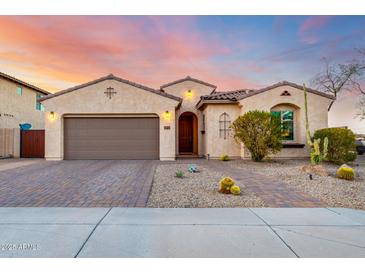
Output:
<path fill-rule="evenodd" d="M 65 159 L 158 159 L 159 120 L 65 118 Z"/>

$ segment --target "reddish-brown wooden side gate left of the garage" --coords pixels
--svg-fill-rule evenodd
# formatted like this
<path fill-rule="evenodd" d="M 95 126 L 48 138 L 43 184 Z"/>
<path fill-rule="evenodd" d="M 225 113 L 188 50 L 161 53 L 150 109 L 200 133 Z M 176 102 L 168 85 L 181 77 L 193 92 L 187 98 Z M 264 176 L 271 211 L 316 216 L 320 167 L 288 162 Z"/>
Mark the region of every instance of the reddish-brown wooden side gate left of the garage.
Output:
<path fill-rule="evenodd" d="M 44 158 L 44 130 L 21 131 L 20 157 Z"/>

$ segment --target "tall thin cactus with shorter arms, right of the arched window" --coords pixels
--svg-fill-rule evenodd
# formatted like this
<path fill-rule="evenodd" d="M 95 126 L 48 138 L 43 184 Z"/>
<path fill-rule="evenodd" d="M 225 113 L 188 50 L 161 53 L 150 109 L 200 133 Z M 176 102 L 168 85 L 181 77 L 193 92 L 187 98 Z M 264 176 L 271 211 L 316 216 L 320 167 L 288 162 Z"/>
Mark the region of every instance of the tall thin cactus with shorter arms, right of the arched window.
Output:
<path fill-rule="evenodd" d="M 314 139 L 312 141 L 312 137 L 309 130 L 309 121 L 308 121 L 308 101 L 307 101 L 307 88 L 303 84 L 304 90 L 304 112 L 305 112 L 305 132 L 307 136 L 307 144 L 311 148 L 310 151 L 310 159 L 312 165 L 318 165 L 323 160 L 327 158 L 328 151 L 328 138 L 325 137 L 323 139 L 323 146 L 321 151 L 321 139 Z"/>

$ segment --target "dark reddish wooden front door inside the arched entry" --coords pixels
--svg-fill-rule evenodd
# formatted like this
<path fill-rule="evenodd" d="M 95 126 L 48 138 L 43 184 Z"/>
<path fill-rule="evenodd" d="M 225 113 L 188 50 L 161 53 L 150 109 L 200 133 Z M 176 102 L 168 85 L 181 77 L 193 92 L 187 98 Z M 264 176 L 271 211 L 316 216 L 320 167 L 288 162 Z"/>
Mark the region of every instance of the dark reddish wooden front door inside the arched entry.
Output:
<path fill-rule="evenodd" d="M 182 115 L 179 118 L 179 153 L 193 153 L 194 148 L 193 116 Z"/>

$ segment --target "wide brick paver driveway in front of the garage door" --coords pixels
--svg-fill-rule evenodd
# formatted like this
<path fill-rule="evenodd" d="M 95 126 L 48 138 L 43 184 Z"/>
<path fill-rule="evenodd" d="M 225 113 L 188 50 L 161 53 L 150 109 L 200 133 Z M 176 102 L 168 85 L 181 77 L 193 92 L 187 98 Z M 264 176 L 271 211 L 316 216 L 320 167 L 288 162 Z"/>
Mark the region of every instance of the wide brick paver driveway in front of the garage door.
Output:
<path fill-rule="evenodd" d="M 158 161 L 40 161 L 0 171 L 0 207 L 144 207 Z"/>

